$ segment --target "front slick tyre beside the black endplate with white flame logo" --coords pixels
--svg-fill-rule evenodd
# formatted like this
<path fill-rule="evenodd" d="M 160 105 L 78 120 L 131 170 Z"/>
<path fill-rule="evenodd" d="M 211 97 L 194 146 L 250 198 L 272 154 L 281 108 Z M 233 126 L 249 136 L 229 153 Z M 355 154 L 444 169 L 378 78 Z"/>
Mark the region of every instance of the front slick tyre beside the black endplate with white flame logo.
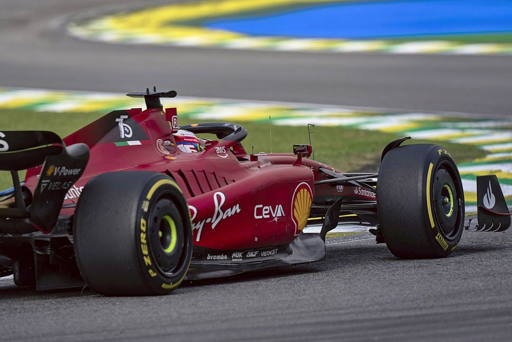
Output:
<path fill-rule="evenodd" d="M 377 180 L 377 213 L 395 256 L 438 258 L 452 253 L 463 231 L 464 193 L 450 154 L 431 144 L 386 153 Z"/>

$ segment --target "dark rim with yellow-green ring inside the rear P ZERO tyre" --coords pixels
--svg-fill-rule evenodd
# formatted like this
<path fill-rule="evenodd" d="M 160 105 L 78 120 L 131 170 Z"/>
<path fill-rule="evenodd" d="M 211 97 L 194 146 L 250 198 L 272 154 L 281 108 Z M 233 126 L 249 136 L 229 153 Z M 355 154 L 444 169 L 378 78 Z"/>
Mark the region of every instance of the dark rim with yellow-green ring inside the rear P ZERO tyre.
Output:
<path fill-rule="evenodd" d="M 178 213 L 172 200 L 165 197 L 160 198 L 150 211 L 151 251 L 158 268 L 167 275 L 181 268 L 186 254 L 183 223 Z"/>

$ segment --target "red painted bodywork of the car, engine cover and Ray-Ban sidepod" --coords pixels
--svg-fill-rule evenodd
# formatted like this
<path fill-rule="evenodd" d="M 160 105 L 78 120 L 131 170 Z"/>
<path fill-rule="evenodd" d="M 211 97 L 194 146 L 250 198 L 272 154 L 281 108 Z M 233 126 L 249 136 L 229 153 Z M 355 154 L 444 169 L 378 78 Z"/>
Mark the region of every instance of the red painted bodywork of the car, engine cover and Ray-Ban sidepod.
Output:
<path fill-rule="evenodd" d="M 119 124 L 119 118 L 127 116 Z M 116 121 L 117 119 L 117 121 Z M 118 126 L 127 125 L 130 136 Z M 201 125 L 201 124 L 198 124 Z M 357 187 L 341 190 L 314 185 L 327 179 L 322 163 L 293 153 L 248 156 L 233 142 L 208 142 L 205 151 L 184 153 L 176 148 L 172 128 L 161 109 L 114 111 L 64 138 L 67 146 L 86 143 L 90 159 L 83 175 L 68 191 L 64 207 L 77 202 L 88 180 L 110 171 L 154 171 L 176 180 L 189 205 L 194 244 L 214 250 L 285 245 L 302 232 L 315 195 L 374 200 Z M 332 169 L 332 168 L 331 168 Z M 30 169 L 26 186 L 35 189 L 41 167 Z M 333 170 L 334 171 L 334 170 Z M 126 184 L 127 187 L 130 184 Z M 356 193 L 354 193 L 354 190 Z M 62 209 L 70 216 L 74 208 Z"/>

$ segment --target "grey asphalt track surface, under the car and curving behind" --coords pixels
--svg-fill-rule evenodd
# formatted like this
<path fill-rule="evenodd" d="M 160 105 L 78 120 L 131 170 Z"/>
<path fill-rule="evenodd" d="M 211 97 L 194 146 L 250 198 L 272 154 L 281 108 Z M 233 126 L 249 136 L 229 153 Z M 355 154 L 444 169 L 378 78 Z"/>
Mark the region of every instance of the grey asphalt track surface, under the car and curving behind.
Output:
<path fill-rule="evenodd" d="M 0 0 L 0 86 L 156 85 L 190 96 L 510 114 L 512 57 L 122 46 L 63 33 L 70 16 L 111 5 L 131 3 Z M 510 231 L 464 232 L 448 258 L 399 260 L 373 239 L 333 240 L 326 261 L 164 297 L 36 293 L 3 279 L 0 339 L 510 340 L 511 243 Z"/>

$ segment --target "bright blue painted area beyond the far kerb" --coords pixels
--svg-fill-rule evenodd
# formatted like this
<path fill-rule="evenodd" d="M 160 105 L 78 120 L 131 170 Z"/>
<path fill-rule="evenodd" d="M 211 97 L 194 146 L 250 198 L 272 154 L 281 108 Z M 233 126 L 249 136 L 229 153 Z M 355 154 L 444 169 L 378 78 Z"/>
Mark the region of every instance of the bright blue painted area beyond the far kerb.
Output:
<path fill-rule="evenodd" d="M 387 38 L 512 32 L 512 0 L 423 0 L 317 5 L 208 28 L 258 36 Z"/>

